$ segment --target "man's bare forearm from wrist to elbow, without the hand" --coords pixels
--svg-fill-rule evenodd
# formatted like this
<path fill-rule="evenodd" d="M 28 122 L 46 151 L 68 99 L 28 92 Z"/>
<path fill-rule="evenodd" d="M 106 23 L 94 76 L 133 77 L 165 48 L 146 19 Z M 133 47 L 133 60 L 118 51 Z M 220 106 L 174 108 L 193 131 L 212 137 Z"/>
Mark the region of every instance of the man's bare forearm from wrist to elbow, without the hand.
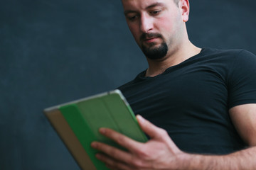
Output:
<path fill-rule="evenodd" d="M 182 169 L 186 170 L 255 170 L 256 147 L 221 156 L 186 154 L 183 159 Z"/>

